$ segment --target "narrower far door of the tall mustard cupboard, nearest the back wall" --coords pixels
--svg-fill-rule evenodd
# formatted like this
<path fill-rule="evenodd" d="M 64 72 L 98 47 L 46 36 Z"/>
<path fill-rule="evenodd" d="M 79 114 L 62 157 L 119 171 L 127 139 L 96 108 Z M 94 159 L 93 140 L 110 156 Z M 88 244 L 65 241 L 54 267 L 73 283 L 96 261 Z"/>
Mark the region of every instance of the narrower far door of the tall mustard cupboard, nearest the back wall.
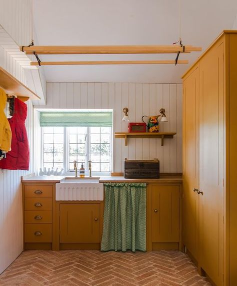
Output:
<path fill-rule="evenodd" d="M 188 252 L 198 259 L 198 137 L 199 68 L 183 81 L 183 199 L 182 239 Z"/>

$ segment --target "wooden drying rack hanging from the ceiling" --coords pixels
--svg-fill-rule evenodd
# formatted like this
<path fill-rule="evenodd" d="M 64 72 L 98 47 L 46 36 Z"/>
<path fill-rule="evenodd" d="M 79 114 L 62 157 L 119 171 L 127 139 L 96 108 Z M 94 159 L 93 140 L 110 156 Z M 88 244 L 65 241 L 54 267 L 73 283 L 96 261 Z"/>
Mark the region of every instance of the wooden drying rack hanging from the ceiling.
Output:
<path fill-rule="evenodd" d="M 131 64 L 187 64 L 188 61 L 178 61 L 179 54 L 201 51 L 200 47 L 170 45 L 170 46 L 33 46 L 20 47 L 26 55 L 35 55 L 37 62 L 32 66 L 46 65 L 131 65 Z M 38 55 L 104 55 L 104 54 L 177 54 L 174 61 L 75 61 L 75 62 L 41 62 Z"/>

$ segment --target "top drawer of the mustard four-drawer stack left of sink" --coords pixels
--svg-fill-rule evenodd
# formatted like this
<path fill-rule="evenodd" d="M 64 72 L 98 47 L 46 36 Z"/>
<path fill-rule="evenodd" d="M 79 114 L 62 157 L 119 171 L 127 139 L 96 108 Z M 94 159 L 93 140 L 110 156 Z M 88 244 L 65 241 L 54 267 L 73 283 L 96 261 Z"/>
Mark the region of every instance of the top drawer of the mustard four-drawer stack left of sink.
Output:
<path fill-rule="evenodd" d="M 24 196 L 26 198 L 51 198 L 52 186 L 26 185 L 24 186 Z"/>

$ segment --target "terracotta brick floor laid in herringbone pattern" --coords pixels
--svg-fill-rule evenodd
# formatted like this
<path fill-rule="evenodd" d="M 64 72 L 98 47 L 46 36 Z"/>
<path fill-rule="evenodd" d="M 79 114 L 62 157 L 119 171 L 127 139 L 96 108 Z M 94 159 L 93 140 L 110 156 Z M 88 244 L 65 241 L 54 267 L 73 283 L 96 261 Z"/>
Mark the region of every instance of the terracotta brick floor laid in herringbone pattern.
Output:
<path fill-rule="evenodd" d="M 0 286 L 208 286 L 189 257 L 173 250 L 28 250 L 0 275 Z"/>

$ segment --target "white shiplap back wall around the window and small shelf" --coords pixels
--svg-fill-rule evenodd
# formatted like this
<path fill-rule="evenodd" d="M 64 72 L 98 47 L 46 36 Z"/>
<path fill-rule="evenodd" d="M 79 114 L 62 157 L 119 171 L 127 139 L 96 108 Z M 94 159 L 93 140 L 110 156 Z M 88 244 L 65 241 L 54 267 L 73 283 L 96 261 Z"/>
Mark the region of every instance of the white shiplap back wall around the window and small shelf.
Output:
<path fill-rule="evenodd" d="M 38 106 L 37 106 L 38 107 Z M 45 108 L 45 106 L 39 106 Z M 160 172 L 182 172 L 180 84 L 138 83 L 47 83 L 46 108 L 113 109 L 113 131 L 126 132 L 121 121 L 122 108 L 129 109 L 131 122 L 141 122 L 142 115 L 157 115 L 165 108 L 168 122 L 160 123 L 160 131 L 176 132 L 173 139 L 114 139 L 113 172 L 123 171 L 124 158 L 160 160 Z"/>

